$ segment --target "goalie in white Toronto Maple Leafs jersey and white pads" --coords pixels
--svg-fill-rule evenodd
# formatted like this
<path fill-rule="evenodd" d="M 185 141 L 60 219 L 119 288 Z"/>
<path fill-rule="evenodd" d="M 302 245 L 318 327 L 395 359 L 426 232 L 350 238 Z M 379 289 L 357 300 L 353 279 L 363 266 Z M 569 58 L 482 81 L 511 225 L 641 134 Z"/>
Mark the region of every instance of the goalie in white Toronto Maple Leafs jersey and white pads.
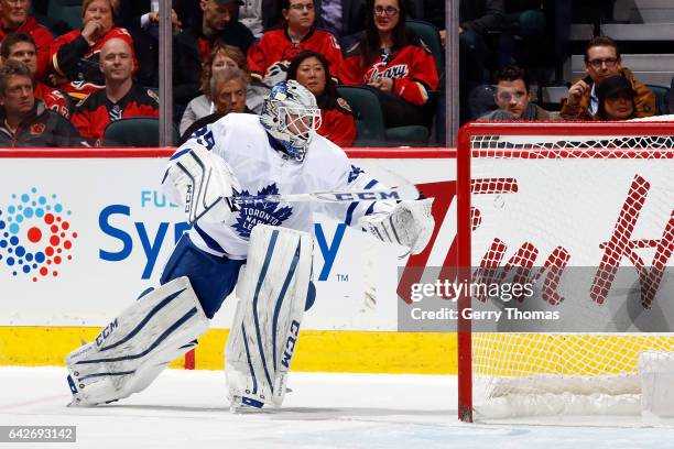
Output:
<path fill-rule="evenodd" d="M 382 186 L 316 134 L 320 110 L 296 81 L 281 83 L 260 116 L 230 113 L 168 161 L 162 185 L 192 229 L 160 286 L 66 359 L 72 405 L 94 406 L 145 388 L 197 344 L 225 298 L 238 302 L 225 350 L 230 405 L 280 406 L 302 317 L 315 299 L 313 212 L 421 252 L 434 227 L 431 199 L 240 202 L 247 195 L 367 190 Z"/>

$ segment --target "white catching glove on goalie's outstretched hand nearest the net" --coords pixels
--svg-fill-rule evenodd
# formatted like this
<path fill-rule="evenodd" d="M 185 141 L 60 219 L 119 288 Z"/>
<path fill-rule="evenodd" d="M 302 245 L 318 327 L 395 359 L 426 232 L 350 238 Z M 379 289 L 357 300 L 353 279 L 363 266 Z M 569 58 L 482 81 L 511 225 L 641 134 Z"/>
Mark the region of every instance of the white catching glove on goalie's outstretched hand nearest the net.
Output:
<path fill-rule="evenodd" d="M 426 248 L 435 227 L 433 198 L 401 201 L 390 211 L 365 216 L 359 225 L 384 242 L 407 247 L 412 254 Z"/>

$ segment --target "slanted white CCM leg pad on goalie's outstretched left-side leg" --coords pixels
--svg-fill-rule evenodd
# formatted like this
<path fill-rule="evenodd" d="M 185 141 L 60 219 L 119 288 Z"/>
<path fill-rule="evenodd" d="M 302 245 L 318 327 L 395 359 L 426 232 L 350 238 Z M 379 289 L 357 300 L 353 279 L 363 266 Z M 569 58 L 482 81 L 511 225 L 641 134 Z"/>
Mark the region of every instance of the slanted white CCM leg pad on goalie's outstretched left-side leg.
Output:
<path fill-rule="evenodd" d="M 117 401 L 145 388 L 175 358 L 196 346 L 208 318 L 180 277 L 144 295 L 66 358 L 72 405 Z"/>

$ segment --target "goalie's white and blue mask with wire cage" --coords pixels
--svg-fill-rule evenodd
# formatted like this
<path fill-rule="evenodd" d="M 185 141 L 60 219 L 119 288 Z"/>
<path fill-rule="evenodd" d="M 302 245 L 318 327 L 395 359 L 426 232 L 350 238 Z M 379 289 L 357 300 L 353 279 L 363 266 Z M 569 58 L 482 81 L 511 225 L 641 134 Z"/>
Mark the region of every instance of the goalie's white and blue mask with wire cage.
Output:
<path fill-rule="evenodd" d="M 291 158 L 302 162 L 320 127 L 316 97 L 294 79 L 275 85 L 264 99 L 260 122 Z"/>

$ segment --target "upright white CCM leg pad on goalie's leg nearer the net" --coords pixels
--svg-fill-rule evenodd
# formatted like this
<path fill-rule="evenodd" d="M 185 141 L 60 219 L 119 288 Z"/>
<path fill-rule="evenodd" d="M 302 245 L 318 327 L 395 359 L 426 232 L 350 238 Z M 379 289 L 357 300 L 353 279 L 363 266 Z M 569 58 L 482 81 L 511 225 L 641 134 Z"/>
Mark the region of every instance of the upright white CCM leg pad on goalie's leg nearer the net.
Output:
<path fill-rule="evenodd" d="M 280 406 L 307 305 L 313 241 L 306 232 L 258 225 L 237 284 L 225 349 L 232 408 Z"/>

